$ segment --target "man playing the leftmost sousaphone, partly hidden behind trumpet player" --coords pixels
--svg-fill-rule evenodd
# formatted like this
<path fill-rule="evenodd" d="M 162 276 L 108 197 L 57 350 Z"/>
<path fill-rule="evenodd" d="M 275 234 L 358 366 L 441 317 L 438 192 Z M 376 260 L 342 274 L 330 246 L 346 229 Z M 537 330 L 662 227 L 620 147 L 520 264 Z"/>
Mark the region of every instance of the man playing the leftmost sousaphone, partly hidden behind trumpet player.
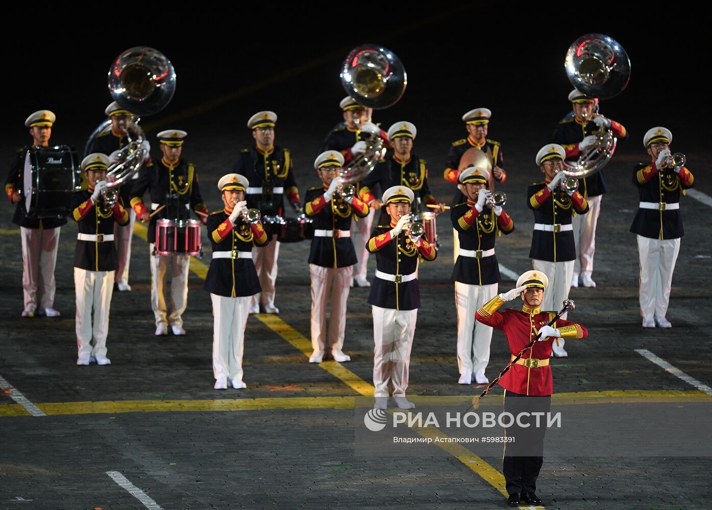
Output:
<path fill-rule="evenodd" d="M 109 155 L 109 163 L 115 164 L 118 161 L 118 154 L 122 147 L 128 144 L 126 132 L 129 129 L 129 123 L 133 117 L 132 113 L 125 110 L 116 101 L 112 102 L 104 113 L 111 119 L 111 130 L 109 132 L 100 133 L 92 140 L 87 152 L 100 152 L 101 154 Z M 144 144 L 148 144 L 148 140 L 144 140 Z M 150 152 L 150 145 L 148 146 Z M 152 166 L 150 159 L 144 163 L 145 166 Z M 133 179 L 138 179 L 138 174 L 135 174 Z M 131 200 L 131 181 L 126 182 L 120 188 L 119 196 L 121 197 L 122 205 L 127 205 Z M 114 224 L 114 238 L 116 245 L 116 253 L 118 264 L 116 270 L 116 288 L 120 292 L 131 290 L 129 285 L 129 266 L 131 264 L 131 240 L 133 236 L 133 227 L 136 223 L 136 212 L 129 208 L 129 223 L 127 225 Z"/>

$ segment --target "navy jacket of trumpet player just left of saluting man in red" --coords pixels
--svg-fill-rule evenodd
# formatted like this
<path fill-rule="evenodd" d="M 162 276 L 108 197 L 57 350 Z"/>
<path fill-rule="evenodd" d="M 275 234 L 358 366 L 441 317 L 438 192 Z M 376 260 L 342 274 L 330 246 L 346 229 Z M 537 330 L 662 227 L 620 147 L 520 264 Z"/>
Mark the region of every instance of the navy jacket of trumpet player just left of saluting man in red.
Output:
<path fill-rule="evenodd" d="M 478 212 L 475 202 L 466 201 L 450 209 L 452 225 L 457 230 L 460 248 L 463 250 L 491 250 L 497 235 L 514 230 L 512 218 L 502 211 L 496 216 L 491 208 Z M 458 255 L 452 270 L 452 279 L 467 285 L 491 285 L 501 282 L 497 256 L 465 257 Z"/>

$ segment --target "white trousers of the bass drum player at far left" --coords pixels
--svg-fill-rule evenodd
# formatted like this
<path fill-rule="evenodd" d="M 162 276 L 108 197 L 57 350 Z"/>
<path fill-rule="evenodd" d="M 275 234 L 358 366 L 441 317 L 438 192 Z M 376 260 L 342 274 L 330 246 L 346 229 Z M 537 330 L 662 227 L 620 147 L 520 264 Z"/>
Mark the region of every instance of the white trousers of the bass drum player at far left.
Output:
<path fill-rule="evenodd" d="M 52 308 L 54 305 L 57 288 L 54 267 L 57 264 L 60 228 L 20 227 L 25 308 Z"/>

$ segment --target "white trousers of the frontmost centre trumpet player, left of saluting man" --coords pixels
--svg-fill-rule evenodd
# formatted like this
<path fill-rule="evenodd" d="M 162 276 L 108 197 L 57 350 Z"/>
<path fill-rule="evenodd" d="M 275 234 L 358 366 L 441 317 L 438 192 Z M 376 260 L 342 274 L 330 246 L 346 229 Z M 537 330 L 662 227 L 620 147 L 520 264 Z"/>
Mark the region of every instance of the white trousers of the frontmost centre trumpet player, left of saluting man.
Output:
<path fill-rule="evenodd" d="M 371 307 L 373 311 L 373 386 L 376 397 L 394 397 L 408 388 L 410 349 L 413 346 L 418 310 Z"/>

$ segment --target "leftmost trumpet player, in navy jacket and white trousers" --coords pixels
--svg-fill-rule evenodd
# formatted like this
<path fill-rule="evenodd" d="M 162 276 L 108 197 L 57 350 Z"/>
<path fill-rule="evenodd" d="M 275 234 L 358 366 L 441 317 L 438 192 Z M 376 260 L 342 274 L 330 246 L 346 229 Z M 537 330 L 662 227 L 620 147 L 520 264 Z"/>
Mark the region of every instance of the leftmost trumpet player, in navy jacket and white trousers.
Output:
<path fill-rule="evenodd" d="M 72 216 L 79 227 L 74 250 L 78 365 L 88 365 L 90 361 L 99 365 L 111 364 L 106 357 L 106 337 L 109 334 L 114 272 L 118 267 L 114 223 L 127 225 L 129 213 L 120 201 L 111 205 L 102 195 L 108 166 L 109 158 L 105 154 L 86 156 L 81 167 L 88 187 L 73 196 Z"/>

